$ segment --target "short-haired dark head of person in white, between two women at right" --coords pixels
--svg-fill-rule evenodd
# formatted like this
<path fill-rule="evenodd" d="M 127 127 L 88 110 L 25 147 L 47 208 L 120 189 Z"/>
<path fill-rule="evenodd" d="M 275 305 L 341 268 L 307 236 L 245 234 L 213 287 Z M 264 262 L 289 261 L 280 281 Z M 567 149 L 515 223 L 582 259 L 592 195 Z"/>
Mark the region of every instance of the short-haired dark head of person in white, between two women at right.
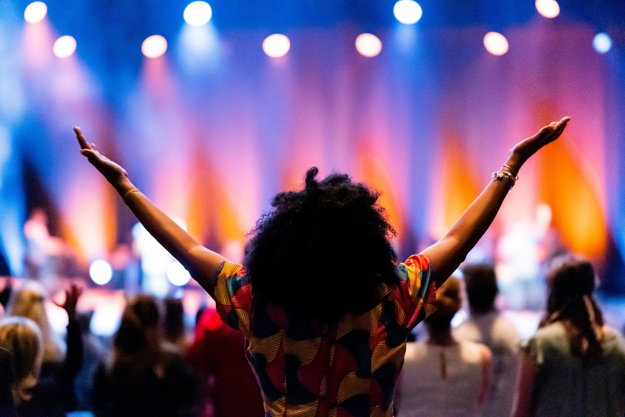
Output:
<path fill-rule="evenodd" d="M 474 313 L 487 313 L 495 308 L 497 277 L 489 264 L 475 264 L 462 268 L 469 308 Z"/>

